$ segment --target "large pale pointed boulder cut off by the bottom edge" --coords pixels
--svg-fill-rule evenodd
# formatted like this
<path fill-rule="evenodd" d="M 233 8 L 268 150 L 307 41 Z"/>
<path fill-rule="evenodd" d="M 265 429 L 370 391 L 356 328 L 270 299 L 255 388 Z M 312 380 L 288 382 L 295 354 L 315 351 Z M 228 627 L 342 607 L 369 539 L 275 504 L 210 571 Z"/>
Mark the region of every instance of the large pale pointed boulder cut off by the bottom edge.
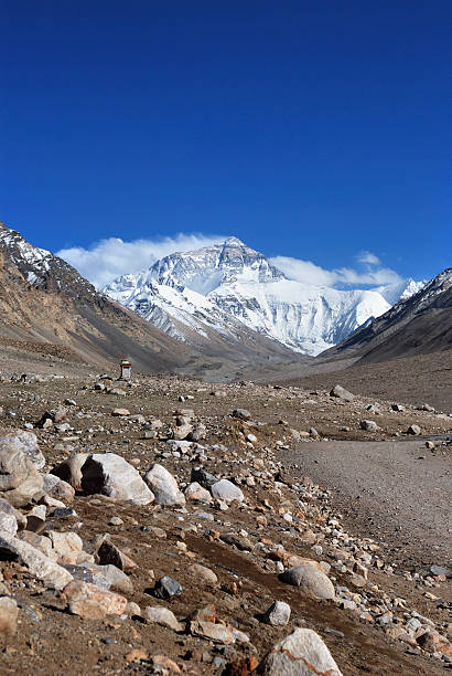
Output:
<path fill-rule="evenodd" d="M 322 638 L 308 629 L 295 629 L 279 641 L 259 665 L 265 676 L 342 676 Z"/>

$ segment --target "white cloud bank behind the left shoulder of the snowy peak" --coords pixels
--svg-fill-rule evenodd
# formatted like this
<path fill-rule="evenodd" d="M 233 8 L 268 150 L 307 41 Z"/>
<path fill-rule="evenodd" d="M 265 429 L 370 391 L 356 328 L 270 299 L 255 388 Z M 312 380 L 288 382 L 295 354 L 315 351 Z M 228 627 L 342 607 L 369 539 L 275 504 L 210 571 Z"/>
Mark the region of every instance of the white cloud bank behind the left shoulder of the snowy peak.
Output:
<path fill-rule="evenodd" d="M 93 244 L 89 249 L 72 246 L 62 249 L 56 255 L 73 265 L 96 288 L 126 273 L 147 270 L 155 261 L 177 251 L 193 251 L 224 242 L 220 235 L 177 234 L 174 237 L 157 240 L 133 240 L 123 242 L 119 237 L 108 237 Z"/>

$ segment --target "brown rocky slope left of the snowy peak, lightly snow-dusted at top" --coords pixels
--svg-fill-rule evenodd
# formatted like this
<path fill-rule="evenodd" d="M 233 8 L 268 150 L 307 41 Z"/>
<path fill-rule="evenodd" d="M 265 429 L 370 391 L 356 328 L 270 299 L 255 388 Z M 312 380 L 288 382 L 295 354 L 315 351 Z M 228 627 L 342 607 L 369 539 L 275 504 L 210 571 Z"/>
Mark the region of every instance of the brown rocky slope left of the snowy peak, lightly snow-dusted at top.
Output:
<path fill-rule="evenodd" d="M 181 345 L 1 222 L 0 263 L 4 338 L 57 344 L 92 363 L 127 357 L 146 372 L 183 371 L 229 380 L 245 365 L 300 362 L 289 349 L 239 323 L 225 335 L 209 326 L 201 334 L 195 325 L 184 325 L 190 340 Z M 174 326 L 180 326 L 177 319 Z"/>

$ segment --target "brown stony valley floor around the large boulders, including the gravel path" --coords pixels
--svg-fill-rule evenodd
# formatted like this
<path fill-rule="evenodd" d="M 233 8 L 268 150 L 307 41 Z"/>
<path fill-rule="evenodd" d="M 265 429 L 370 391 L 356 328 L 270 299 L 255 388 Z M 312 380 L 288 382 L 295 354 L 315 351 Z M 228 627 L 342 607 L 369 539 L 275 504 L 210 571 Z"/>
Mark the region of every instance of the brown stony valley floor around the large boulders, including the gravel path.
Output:
<path fill-rule="evenodd" d="M 40 363 L 30 361 L 21 371 L 34 367 L 37 372 Z M 52 371 L 63 378 L 52 379 Z M 123 393 L 108 394 L 95 390 L 93 368 L 65 370 L 53 359 L 42 372 L 43 382 L 0 381 L 0 424 L 23 429 L 45 410 L 74 400 L 67 416 L 72 430 L 33 430 L 47 469 L 79 452 L 111 452 L 140 474 L 154 462 L 162 464 L 182 489 L 192 468 L 202 465 L 234 480 L 245 495 L 244 505 L 227 509 L 215 501 L 187 501 L 181 510 L 77 494 L 71 505 L 76 516 L 53 517 L 49 510 L 47 527 L 76 531 L 88 553 L 95 552 L 96 536 L 110 534 L 138 564 L 130 573 L 128 601 L 141 610 L 168 608 L 184 627 L 191 613 L 214 604 L 217 616 L 245 632 L 249 643 L 225 645 L 137 615 L 82 619 L 67 612 L 60 592 L 3 560 L 3 584 L 18 601 L 20 623 L 15 636 L 1 645 L 0 673 L 165 673 L 155 666 L 155 655 L 164 655 L 179 673 L 247 676 L 297 626 L 315 630 L 346 676 L 439 675 L 449 667 L 441 654 L 421 649 L 407 624 L 420 617 L 421 626 L 434 623 L 451 636 L 451 580 L 424 570 L 448 567 L 451 550 L 451 446 L 435 441 L 433 450 L 426 448 L 426 440 L 451 434 L 449 411 L 418 410 L 408 397 L 399 400 L 403 411 L 392 411 L 392 395 L 381 398 L 377 411 L 367 411 L 374 393 L 352 402 L 334 399 L 329 390 L 335 378 L 327 374 L 315 388 L 313 376 L 308 388 L 275 388 L 137 374 L 130 387 L 114 383 Z M 341 382 L 348 384 L 345 376 Z M 115 408 L 142 415 L 149 425 L 132 415 L 112 416 Z M 239 408 L 249 411 L 250 420 L 232 416 Z M 205 426 L 205 439 L 186 453 L 174 452 L 166 441 L 181 409 L 192 409 L 195 427 Z M 362 430 L 362 420 L 375 421 L 378 431 Z M 411 424 L 421 427 L 420 436 L 406 434 Z M 318 434 L 309 433 L 312 427 Z M 155 434 L 147 436 L 149 430 Z M 112 516 L 121 522 L 111 522 Z M 327 563 L 336 600 L 318 601 L 283 583 L 279 571 L 291 557 Z M 367 575 L 364 583 L 352 570 L 357 562 Z M 203 580 L 193 563 L 214 571 L 217 582 Z M 160 601 L 152 589 L 165 574 L 183 592 Z M 291 606 L 287 626 L 262 622 L 273 600 Z M 141 651 L 141 658 L 133 651 Z"/>

